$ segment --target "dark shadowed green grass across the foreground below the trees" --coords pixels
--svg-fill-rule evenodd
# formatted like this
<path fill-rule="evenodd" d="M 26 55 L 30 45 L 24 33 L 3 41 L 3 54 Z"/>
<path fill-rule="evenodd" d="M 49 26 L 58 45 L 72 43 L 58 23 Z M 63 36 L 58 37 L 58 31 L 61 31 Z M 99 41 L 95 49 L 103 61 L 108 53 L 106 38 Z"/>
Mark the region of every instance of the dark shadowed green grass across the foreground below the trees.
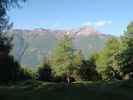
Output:
<path fill-rule="evenodd" d="M 0 86 L 0 100 L 133 100 L 133 81 L 63 83 L 27 81 Z"/>

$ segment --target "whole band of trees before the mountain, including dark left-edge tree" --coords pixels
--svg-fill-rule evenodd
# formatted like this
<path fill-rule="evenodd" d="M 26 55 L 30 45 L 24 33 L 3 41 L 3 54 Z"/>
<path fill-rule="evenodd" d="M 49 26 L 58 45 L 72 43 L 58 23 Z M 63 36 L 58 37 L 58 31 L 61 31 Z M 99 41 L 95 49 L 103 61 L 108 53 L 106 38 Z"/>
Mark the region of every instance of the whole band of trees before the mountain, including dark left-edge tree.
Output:
<path fill-rule="evenodd" d="M 0 1 L 0 84 L 25 80 L 49 82 L 123 80 L 133 77 L 133 22 L 124 35 L 110 37 L 99 52 L 84 58 L 82 50 L 74 48 L 73 37 L 64 35 L 51 55 L 45 57 L 37 70 L 23 68 L 11 55 L 13 37 L 7 10 L 19 7 L 25 0 Z"/>

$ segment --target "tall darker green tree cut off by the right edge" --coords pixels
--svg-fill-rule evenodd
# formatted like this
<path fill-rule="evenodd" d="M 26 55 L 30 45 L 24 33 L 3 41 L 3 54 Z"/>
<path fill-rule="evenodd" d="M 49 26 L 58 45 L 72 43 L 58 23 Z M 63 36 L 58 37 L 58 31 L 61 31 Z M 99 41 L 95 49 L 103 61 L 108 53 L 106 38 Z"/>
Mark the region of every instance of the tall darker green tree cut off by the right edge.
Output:
<path fill-rule="evenodd" d="M 133 22 L 127 26 L 121 37 L 120 50 L 115 58 L 122 76 L 133 73 Z"/>

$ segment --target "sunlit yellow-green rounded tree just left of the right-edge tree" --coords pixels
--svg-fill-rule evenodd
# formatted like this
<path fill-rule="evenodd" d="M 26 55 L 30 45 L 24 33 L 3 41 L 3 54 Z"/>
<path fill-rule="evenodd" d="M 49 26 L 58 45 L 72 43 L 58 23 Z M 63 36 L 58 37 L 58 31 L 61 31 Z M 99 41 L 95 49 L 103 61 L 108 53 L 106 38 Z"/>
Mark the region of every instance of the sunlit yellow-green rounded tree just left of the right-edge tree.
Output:
<path fill-rule="evenodd" d="M 115 64 L 115 55 L 119 51 L 120 40 L 116 37 L 110 37 L 105 48 L 99 52 L 96 59 L 96 69 L 103 79 L 114 79 L 117 65 Z"/>

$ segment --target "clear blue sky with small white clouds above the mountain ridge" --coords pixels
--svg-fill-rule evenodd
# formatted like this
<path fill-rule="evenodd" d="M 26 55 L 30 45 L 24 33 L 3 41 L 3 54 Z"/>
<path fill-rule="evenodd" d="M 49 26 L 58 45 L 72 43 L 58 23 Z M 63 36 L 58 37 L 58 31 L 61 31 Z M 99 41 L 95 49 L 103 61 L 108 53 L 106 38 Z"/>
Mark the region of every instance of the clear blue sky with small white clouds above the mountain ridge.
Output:
<path fill-rule="evenodd" d="M 133 20 L 133 0 L 28 0 L 9 11 L 14 28 L 68 29 L 90 25 L 121 35 Z"/>

